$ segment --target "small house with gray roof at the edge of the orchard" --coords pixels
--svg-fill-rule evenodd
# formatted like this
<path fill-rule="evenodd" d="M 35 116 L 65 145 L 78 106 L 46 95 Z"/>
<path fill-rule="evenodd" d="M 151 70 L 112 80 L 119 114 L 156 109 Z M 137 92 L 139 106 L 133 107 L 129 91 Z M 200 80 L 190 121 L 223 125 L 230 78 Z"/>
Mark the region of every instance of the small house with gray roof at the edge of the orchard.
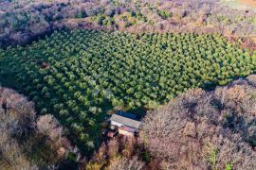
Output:
<path fill-rule="evenodd" d="M 112 129 L 117 129 L 119 134 L 125 136 L 134 136 L 138 132 L 141 124 L 137 121 L 137 116 L 128 112 L 118 111 L 110 118 L 110 126 Z"/>

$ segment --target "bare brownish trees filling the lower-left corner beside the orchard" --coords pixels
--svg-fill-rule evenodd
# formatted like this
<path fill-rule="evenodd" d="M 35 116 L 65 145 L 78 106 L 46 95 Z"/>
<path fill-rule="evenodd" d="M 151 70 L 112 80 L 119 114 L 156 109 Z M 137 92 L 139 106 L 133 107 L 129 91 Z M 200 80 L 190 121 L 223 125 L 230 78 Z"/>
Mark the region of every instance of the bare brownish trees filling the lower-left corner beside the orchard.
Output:
<path fill-rule="evenodd" d="M 0 169 L 37 169 L 64 159 L 70 144 L 63 128 L 52 115 L 36 118 L 32 102 L 0 87 Z"/>

